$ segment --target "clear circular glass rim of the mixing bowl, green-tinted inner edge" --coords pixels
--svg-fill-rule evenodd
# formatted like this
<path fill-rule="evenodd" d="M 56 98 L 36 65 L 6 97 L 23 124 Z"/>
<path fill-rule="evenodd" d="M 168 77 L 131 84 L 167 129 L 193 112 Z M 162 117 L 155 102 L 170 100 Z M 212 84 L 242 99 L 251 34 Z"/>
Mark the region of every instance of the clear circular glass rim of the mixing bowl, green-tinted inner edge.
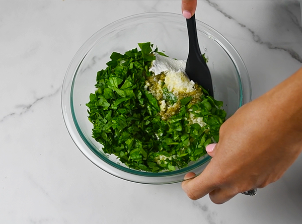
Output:
<path fill-rule="evenodd" d="M 78 125 L 72 107 L 72 92 L 73 92 L 73 83 L 75 81 L 75 77 L 77 76 L 77 71 L 82 61 L 84 60 L 87 53 L 95 46 L 98 40 L 107 34 L 106 30 L 112 30 L 114 27 L 118 27 L 121 22 L 126 20 L 136 20 L 138 18 L 145 17 L 145 16 L 156 17 L 159 15 L 162 17 L 163 16 L 178 17 L 178 18 L 182 17 L 182 15 L 180 14 L 166 13 L 166 12 L 141 13 L 141 14 L 128 16 L 119 19 L 115 22 L 112 22 L 107 26 L 103 27 L 102 29 L 100 29 L 99 31 L 97 31 L 95 34 L 93 34 L 82 45 L 82 47 L 78 50 L 78 52 L 71 60 L 64 77 L 62 92 L 61 92 L 61 106 L 62 106 L 64 122 L 69 132 L 69 135 L 71 136 L 74 143 L 78 146 L 80 151 L 96 166 L 98 166 L 102 170 L 116 177 L 133 181 L 133 182 L 147 183 L 147 184 L 167 184 L 167 183 L 175 183 L 175 182 L 183 181 L 183 176 L 185 173 L 194 172 L 196 169 L 198 169 L 198 167 L 207 163 L 210 160 L 210 157 L 206 155 L 201 161 L 189 167 L 183 168 L 181 170 L 176 170 L 172 172 L 163 172 L 163 173 L 151 173 L 151 172 L 137 171 L 129 168 L 124 168 L 122 166 L 119 166 L 118 164 L 113 163 L 105 156 L 102 156 L 101 158 L 100 156 L 97 156 L 95 153 L 93 153 L 92 150 L 93 146 L 90 145 L 89 141 L 85 139 L 84 134 L 81 133 L 82 130 Z M 228 40 L 226 40 L 226 38 L 224 38 L 219 32 L 217 32 L 209 25 L 199 20 L 196 20 L 196 25 L 197 25 L 197 30 L 199 30 L 200 27 L 202 27 L 207 32 L 209 32 L 209 34 L 214 37 L 214 40 L 217 42 L 217 44 L 219 44 L 232 59 L 238 73 L 238 80 L 239 80 L 239 86 L 241 92 L 240 106 L 250 102 L 252 98 L 252 93 L 251 93 L 251 83 L 248 76 L 248 71 L 237 50 Z M 219 40 L 217 39 L 217 37 Z M 226 48 L 225 45 L 228 48 Z"/>

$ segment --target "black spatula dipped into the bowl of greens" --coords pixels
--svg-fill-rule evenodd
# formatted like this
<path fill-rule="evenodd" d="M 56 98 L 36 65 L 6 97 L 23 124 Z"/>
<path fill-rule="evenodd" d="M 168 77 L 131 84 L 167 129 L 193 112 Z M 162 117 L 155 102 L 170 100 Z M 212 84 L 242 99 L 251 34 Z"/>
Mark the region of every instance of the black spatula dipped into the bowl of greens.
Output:
<path fill-rule="evenodd" d="M 202 57 L 198 44 L 195 15 L 187 19 L 187 27 L 189 34 L 189 55 L 186 64 L 186 73 L 194 83 L 198 83 L 213 97 L 210 70 Z"/>

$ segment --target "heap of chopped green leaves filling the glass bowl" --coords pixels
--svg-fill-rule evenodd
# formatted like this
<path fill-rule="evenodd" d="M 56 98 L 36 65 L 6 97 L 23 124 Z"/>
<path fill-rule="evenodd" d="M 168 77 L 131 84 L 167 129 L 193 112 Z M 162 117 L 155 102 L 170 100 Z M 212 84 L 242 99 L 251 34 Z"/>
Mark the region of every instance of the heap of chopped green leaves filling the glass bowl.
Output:
<path fill-rule="evenodd" d="M 163 120 L 158 100 L 145 89 L 153 52 L 164 53 L 149 42 L 124 54 L 113 52 L 107 68 L 98 71 L 96 91 L 87 103 L 92 136 L 129 168 L 148 172 L 174 171 L 206 154 L 205 147 L 218 141 L 226 113 L 222 102 L 205 90 L 198 100 L 178 99 L 163 88 L 163 99 L 178 104 L 174 116 Z M 204 57 L 204 55 L 203 55 Z M 205 57 L 204 57 L 205 58 Z M 198 95 L 199 96 L 199 95 Z M 192 103 L 193 102 L 193 103 Z M 192 122 L 202 118 L 205 125 Z"/>

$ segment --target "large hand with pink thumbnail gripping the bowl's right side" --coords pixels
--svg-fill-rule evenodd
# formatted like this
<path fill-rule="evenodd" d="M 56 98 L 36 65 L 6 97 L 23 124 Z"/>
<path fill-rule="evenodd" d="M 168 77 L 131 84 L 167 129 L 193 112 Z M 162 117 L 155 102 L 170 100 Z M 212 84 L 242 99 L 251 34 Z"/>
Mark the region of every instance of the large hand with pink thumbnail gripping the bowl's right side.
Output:
<path fill-rule="evenodd" d="M 221 204 L 278 180 L 302 151 L 301 85 L 302 69 L 226 120 L 218 144 L 206 148 L 213 158 L 205 170 L 185 176 L 187 195 Z"/>

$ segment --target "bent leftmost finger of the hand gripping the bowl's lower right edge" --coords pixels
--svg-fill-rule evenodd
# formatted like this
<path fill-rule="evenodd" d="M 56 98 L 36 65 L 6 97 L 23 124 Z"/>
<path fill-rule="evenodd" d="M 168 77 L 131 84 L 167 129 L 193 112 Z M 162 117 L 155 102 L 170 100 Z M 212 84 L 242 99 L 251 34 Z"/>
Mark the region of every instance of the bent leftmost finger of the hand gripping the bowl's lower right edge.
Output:
<path fill-rule="evenodd" d="M 192 200 L 202 198 L 216 188 L 209 165 L 210 163 L 199 176 L 182 182 L 183 190 Z"/>

